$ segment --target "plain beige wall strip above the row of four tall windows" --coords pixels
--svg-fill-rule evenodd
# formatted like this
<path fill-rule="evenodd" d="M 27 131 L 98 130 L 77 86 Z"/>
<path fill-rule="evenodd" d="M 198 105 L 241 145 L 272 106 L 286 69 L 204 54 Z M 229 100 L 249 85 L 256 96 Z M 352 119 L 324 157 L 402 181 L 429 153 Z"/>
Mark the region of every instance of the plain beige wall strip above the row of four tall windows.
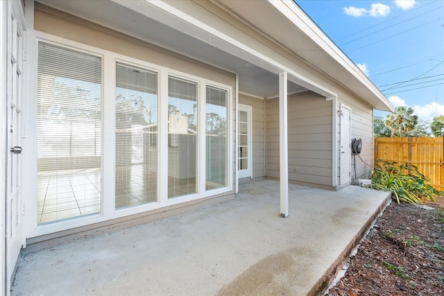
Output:
<path fill-rule="evenodd" d="M 35 3 L 35 30 L 234 87 L 233 73 Z"/>

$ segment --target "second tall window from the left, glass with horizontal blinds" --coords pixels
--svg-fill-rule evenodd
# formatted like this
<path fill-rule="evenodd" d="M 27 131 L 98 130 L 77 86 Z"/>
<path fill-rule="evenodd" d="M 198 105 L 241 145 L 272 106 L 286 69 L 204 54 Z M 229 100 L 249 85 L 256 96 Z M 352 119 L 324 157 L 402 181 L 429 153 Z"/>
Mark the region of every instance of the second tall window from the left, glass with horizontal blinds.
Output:
<path fill-rule="evenodd" d="M 116 209 L 156 201 L 157 73 L 116 64 Z"/>

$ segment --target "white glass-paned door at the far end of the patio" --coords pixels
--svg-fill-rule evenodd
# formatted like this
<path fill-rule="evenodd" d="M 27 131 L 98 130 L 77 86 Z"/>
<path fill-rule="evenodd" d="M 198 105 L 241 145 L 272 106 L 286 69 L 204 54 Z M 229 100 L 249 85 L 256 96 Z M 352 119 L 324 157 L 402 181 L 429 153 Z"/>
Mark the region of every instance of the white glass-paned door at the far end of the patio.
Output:
<path fill-rule="evenodd" d="M 239 105 L 238 112 L 237 175 L 239 178 L 251 177 L 252 107 Z"/>

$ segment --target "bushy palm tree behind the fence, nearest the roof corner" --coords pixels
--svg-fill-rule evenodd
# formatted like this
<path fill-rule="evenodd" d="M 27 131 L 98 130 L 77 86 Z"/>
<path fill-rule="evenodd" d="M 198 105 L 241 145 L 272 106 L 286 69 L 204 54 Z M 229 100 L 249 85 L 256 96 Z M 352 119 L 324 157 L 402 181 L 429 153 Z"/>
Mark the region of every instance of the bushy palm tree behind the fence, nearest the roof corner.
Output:
<path fill-rule="evenodd" d="M 412 107 L 398 107 L 388 114 L 386 125 L 391 130 L 391 137 L 406 137 L 418 124 L 418 116 L 413 115 Z"/>

